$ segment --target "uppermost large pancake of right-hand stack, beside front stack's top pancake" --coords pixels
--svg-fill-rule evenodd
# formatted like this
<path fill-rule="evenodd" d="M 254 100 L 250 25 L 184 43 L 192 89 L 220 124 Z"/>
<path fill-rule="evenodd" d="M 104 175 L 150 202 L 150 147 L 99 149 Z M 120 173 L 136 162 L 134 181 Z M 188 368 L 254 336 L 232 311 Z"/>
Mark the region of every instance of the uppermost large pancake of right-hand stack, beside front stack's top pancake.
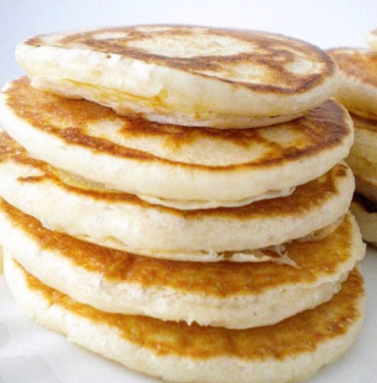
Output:
<path fill-rule="evenodd" d="M 342 73 L 335 98 L 352 113 L 377 120 L 377 53 L 352 48 L 328 52 Z"/>

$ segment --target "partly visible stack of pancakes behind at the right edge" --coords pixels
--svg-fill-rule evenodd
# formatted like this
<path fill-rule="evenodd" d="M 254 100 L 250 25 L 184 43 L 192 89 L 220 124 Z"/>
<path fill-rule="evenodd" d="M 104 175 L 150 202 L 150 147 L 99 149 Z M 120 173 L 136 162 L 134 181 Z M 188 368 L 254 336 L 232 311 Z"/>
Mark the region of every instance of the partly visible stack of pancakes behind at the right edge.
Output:
<path fill-rule="evenodd" d="M 356 179 L 351 211 L 363 239 L 377 246 L 377 30 L 367 41 L 370 50 L 338 48 L 329 53 L 342 73 L 336 98 L 351 112 L 355 127 L 347 158 Z"/>

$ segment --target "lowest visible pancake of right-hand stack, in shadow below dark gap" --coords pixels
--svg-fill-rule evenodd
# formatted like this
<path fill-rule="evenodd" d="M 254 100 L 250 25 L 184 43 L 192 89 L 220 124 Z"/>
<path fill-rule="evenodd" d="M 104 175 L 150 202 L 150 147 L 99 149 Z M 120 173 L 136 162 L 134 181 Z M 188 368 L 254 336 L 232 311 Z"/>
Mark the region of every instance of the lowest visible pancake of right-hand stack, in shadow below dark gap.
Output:
<path fill-rule="evenodd" d="M 355 193 L 351 211 L 356 217 L 363 240 L 377 247 L 377 204 Z"/>

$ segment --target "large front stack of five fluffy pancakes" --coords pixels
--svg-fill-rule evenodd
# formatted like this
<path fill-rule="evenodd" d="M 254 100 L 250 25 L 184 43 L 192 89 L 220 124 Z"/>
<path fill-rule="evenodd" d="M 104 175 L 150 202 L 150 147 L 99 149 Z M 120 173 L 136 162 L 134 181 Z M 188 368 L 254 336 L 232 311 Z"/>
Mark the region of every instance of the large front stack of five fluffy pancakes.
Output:
<path fill-rule="evenodd" d="M 169 381 L 297 380 L 345 352 L 365 246 L 328 54 L 139 26 L 16 55 L 31 80 L 1 96 L 0 244 L 30 316 Z"/>

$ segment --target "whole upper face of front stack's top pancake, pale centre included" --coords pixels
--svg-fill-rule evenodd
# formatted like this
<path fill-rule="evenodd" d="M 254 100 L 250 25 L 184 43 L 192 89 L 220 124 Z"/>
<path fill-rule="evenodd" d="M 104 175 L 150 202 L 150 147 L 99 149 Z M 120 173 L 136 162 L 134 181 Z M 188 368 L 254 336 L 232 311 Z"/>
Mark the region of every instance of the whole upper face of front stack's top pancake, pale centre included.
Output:
<path fill-rule="evenodd" d="M 117 54 L 277 95 L 305 93 L 336 71 L 318 47 L 259 31 L 135 26 L 41 35 L 26 44 L 81 48 L 107 53 L 108 58 Z M 248 71 L 241 75 L 245 67 Z"/>

